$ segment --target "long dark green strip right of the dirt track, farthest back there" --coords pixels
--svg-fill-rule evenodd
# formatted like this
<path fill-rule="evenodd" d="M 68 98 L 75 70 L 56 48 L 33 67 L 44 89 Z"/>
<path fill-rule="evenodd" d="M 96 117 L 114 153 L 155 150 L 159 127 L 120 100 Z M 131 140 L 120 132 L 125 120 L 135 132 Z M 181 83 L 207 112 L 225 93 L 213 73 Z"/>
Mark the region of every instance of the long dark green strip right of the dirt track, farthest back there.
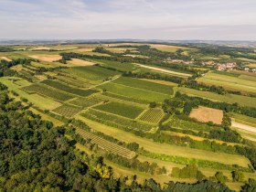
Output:
<path fill-rule="evenodd" d="M 168 85 L 163 85 L 155 82 L 145 81 L 145 80 L 138 80 L 133 78 L 126 78 L 121 77 L 117 80 L 113 80 L 112 82 L 117 84 L 126 85 L 133 88 L 138 88 L 146 91 L 155 91 L 160 92 L 166 95 L 173 95 L 173 87 Z"/>

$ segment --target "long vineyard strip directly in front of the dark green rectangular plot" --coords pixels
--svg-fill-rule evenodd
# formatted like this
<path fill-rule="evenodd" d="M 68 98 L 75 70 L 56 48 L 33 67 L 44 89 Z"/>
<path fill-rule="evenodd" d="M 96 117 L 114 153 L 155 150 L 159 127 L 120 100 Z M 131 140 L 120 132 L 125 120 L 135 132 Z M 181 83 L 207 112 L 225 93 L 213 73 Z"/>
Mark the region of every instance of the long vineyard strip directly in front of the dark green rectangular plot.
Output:
<path fill-rule="evenodd" d="M 117 116 L 111 113 L 101 112 L 94 109 L 87 110 L 86 112 L 82 113 L 81 116 L 126 131 L 134 130 L 139 132 L 149 132 L 152 129 L 152 125 L 150 124 L 136 122 L 128 118 Z"/>

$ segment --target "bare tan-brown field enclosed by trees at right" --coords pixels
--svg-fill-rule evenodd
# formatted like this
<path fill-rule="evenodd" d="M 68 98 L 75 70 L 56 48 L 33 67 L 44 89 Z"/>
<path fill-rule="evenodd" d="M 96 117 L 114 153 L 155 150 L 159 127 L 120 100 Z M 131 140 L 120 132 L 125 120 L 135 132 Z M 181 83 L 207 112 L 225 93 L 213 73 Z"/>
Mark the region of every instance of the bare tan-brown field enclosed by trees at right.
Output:
<path fill-rule="evenodd" d="M 199 122 L 221 124 L 223 112 L 220 110 L 199 106 L 197 109 L 193 109 L 189 116 L 197 119 Z"/>

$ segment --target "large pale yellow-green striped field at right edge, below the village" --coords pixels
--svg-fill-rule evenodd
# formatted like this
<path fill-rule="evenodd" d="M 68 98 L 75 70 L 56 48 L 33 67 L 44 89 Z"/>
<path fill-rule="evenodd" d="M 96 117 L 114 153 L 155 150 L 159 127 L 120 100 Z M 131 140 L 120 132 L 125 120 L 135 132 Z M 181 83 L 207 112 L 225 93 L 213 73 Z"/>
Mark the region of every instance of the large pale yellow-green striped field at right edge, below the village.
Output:
<path fill-rule="evenodd" d="M 252 80 L 242 80 L 238 77 L 231 77 L 209 72 L 204 77 L 199 78 L 197 81 L 210 85 L 222 86 L 232 91 L 243 91 L 256 94 L 256 83 Z"/>

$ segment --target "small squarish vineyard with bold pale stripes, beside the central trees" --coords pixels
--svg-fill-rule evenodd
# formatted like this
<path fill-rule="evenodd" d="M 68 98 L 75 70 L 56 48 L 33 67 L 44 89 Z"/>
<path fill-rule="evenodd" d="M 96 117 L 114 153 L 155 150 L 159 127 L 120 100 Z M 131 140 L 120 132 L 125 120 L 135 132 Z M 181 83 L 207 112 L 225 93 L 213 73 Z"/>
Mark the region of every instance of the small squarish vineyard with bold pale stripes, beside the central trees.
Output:
<path fill-rule="evenodd" d="M 165 116 L 165 112 L 161 109 L 149 109 L 140 117 L 140 120 L 148 123 L 158 123 Z"/>

